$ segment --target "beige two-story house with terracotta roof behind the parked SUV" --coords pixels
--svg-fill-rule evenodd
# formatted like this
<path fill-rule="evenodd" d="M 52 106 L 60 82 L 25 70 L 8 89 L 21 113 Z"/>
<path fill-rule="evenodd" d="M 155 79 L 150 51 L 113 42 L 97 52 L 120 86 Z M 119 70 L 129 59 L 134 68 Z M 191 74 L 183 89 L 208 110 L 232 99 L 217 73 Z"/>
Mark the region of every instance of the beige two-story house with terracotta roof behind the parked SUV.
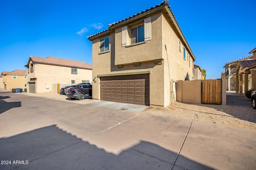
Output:
<path fill-rule="evenodd" d="M 92 65 L 58 57 L 30 56 L 27 67 L 28 92 L 53 92 L 56 84 L 92 82 Z M 56 90 L 57 92 L 57 90 Z"/>

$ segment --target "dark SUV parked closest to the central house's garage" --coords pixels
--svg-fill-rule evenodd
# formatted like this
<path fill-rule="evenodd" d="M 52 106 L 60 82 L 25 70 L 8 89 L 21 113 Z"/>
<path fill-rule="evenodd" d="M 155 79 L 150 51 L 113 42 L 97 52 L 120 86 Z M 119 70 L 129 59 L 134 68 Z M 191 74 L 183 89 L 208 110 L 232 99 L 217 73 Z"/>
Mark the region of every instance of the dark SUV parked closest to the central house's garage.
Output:
<path fill-rule="evenodd" d="M 76 86 L 71 86 L 68 89 L 67 97 L 72 100 L 83 100 L 85 97 L 92 97 L 92 85 L 80 84 Z"/>

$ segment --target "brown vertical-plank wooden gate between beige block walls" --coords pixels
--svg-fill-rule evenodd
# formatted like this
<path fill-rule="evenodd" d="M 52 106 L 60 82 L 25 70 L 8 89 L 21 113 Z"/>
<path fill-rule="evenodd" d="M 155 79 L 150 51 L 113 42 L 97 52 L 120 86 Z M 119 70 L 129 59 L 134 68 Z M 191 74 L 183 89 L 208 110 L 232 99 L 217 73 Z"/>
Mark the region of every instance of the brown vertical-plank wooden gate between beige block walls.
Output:
<path fill-rule="evenodd" d="M 202 104 L 222 104 L 222 80 L 202 80 Z"/>

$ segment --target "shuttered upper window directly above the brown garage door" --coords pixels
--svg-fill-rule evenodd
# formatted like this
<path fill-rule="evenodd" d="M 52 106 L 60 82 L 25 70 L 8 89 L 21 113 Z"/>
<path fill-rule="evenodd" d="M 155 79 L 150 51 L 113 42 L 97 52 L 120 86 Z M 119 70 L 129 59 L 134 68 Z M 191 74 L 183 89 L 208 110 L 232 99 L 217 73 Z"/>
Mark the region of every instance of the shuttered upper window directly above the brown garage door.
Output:
<path fill-rule="evenodd" d="M 151 17 L 122 27 L 122 47 L 151 40 Z"/>

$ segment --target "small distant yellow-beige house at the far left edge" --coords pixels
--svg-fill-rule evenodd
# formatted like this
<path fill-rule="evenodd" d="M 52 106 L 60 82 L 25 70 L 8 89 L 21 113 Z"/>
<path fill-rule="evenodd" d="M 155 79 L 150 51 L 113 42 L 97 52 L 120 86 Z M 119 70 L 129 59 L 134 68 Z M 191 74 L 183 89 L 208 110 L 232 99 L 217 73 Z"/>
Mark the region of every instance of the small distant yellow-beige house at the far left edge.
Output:
<path fill-rule="evenodd" d="M 27 72 L 26 70 L 3 71 L 2 82 L 4 90 L 12 90 L 13 88 L 27 88 Z"/>

